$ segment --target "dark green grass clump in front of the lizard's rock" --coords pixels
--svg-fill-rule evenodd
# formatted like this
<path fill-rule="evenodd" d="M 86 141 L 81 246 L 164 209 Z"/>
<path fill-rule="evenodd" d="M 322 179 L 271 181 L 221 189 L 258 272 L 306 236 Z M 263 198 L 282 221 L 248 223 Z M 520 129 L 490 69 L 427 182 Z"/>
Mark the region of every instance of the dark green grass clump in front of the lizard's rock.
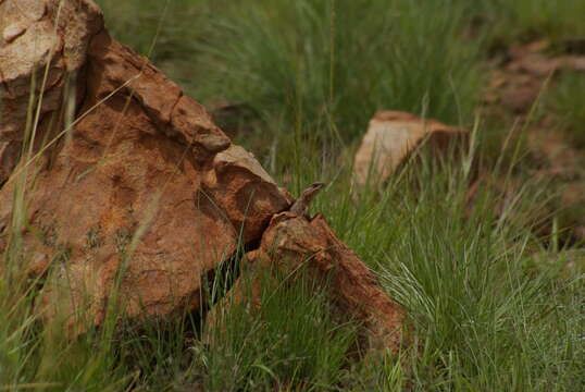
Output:
<path fill-rule="evenodd" d="M 224 301 L 220 306 L 227 309 L 215 309 L 220 317 L 208 326 L 212 343 L 194 347 L 206 370 L 207 390 L 336 390 L 356 328 L 332 318 L 326 285 L 308 271 L 256 277 L 240 282 L 245 298 Z"/>

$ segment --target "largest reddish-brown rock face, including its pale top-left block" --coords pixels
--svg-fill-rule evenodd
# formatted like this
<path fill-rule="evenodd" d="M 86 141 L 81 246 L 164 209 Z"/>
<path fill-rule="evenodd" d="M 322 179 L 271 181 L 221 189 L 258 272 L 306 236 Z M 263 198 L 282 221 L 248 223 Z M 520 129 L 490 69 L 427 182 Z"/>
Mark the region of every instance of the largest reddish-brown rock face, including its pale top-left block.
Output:
<path fill-rule="evenodd" d="M 30 12 L 20 19 L 23 7 Z M 201 277 L 234 254 L 240 233 L 259 238 L 287 194 L 199 103 L 112 40 L 91 1 L 7 0 L 0 15 L 3 175 L 25 135 L 32 75 L 50 64 L 38 140 L 54 134 L 49 123 L 64 127 L 76 91 L 71 133 L 28 167 L 25 259 L 34 275 L 52 266 L 39 299 L 46 315 L 88 310 L 99 324 L 121 271 L 129 317 L 197 307 Z M 25 163 L 0 191 L 0 247 Z"/>

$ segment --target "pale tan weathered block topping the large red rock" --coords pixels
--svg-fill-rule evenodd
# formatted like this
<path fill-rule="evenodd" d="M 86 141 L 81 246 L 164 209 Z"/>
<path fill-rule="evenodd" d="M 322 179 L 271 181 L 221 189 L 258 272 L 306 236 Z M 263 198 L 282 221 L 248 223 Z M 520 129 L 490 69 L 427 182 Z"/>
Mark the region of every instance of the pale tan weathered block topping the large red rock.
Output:
<path fill-rule="evenodd" d="M 0 184 L 17 161 L 32 90 L 43 91 L 37 125 L 46 131 L 63 115 L 67 75 L 82 70 L 89 39 L 102 28 L 92 1 L 0 2 Z"/>

